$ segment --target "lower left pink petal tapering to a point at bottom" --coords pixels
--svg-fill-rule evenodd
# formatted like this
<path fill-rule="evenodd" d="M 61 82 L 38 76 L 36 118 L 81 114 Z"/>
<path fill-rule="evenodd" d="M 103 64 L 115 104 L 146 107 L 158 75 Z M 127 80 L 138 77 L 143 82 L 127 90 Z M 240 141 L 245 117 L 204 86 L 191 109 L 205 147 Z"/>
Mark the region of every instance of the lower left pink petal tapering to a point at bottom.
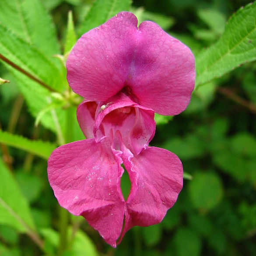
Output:
<path fill-rule="evenodd" d="M 81 140 L 58 147 L 48 161 L 48 178 L 60 205 L 82 215 L 107 243 L 116 246 L 125 201 L 120 189 L 120 152 L 109 141 Z"/>

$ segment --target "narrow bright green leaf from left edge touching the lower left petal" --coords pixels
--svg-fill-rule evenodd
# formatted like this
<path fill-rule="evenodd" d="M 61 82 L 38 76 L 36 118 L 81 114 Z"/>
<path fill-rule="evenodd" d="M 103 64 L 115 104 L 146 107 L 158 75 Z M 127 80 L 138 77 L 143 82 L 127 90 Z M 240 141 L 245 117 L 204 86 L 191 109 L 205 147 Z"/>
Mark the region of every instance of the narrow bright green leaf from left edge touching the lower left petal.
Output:
<path fill-rule="evenodd" d="M 20 135 L 3 132 L 2 130 L 0 130 L 0 143 L 20 148 L 45 159 L 48 159 L 56 148 L 55 144 L 41 140 L 28 140 Z"/>

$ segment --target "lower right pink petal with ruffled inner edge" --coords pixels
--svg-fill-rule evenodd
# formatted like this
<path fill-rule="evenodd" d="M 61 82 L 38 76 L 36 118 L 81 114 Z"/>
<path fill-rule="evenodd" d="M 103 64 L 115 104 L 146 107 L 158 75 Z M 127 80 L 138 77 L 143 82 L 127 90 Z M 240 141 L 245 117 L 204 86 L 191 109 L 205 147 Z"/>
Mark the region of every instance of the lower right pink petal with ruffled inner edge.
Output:
<path fill-rule="evenodd" d="M 161 222 L 176 202 L 183 183 L 182 163 L 172 152 L 158 147 L 148 147 L 135 156 L 127 149 L 123 152 L 131 191 L 126 200 L 122 237 L 135 225 L 149 226 Z"/>

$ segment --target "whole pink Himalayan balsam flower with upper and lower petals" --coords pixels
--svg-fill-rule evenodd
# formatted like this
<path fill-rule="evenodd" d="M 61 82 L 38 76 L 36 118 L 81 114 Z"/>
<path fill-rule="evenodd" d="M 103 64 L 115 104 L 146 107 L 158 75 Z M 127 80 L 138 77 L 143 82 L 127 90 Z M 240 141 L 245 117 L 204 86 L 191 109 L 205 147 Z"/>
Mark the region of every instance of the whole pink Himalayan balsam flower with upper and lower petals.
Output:
<path fill-rule="evenodd" d="M 154 112 L 186 109 L 194 57 L 155 23 L 137 27 L 132 13 L 121 12 L 78 40 L 67 60 L 67 79 L 85 98 L 77 119 L 87 140 L 53 151 L 49 182 L 62 207 L 84 216 L 115 247 L 134 225 L 159 223 L 182 189 L 179 158 L 148 144 Z M 121 164 L 131 181 L 127 200 Z"/>

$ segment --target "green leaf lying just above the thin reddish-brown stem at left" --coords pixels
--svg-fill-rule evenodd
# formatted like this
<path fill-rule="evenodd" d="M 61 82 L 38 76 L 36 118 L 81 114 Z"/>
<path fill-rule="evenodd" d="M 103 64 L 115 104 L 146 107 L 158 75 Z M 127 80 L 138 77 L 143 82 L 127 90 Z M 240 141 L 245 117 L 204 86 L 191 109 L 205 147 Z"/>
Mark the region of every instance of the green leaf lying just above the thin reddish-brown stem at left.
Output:
<path fill-rule="evenodd" d="M 28 42 L 0 23 L 0 52 L 7 59 L 57 91 L 62 91 L 62 71 Z"/>

